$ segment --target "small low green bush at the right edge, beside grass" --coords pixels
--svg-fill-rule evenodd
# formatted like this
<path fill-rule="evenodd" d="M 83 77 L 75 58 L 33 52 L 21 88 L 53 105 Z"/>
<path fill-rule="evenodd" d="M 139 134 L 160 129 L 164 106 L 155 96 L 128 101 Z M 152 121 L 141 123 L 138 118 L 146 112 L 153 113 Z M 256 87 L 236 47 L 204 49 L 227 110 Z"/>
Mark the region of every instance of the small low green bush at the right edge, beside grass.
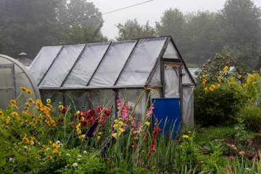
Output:
<path fill-rule="evenodd" d="M 259 131 L 261 129 L 261 108 L 253 105 L 246 105 L 238 113 L 238 117 L 245 120 L 248 130 Z"/>

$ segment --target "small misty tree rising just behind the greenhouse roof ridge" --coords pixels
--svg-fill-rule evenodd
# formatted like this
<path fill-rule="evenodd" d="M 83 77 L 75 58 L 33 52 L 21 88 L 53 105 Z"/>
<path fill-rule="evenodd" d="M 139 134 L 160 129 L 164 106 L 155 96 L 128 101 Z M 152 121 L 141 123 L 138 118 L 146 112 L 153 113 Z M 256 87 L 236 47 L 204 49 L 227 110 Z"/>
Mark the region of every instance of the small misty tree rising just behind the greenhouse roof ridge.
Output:
<path fill-rule="evenodd" d="M 150 27 L 148 21 L 145 25 L 140 25 L 137 19 L 129 19 L 124 24 L 118 23 L 117 28 L 119 30 L 117 41 L 155 36 L 155 30 Z"/>

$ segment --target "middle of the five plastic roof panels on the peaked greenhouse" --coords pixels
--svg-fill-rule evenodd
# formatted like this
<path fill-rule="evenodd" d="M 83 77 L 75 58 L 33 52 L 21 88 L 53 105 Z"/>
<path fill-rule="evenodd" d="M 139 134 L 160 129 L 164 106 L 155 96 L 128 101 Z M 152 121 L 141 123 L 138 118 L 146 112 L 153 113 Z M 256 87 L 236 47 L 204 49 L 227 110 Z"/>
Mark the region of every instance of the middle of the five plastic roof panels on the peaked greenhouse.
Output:
<path fill-rule="evenodd" d="M 89 43 L 63 87 L 84 87 L 102 60 L 109 43 Z"/>

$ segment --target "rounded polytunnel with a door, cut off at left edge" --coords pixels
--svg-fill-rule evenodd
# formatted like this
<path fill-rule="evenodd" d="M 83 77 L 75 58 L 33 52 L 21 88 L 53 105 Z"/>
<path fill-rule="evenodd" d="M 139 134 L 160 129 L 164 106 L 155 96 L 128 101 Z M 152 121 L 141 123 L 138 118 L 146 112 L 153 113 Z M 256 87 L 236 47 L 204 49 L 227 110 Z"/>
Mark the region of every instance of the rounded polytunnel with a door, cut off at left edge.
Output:
<path fill-rule="evenodd" d="M 16 61 L 14 58 L 0 54 L 0 109 L 5 110 L 10 100 L 20 98 L 29 98 L 33 100 L 40 99 L 40 92 L 27 68 Z M 26 87 L 32 91 L 31 95 L 22 93 L 21 87 Z M 18 103 L 19 105 L 19 103 Z"/>

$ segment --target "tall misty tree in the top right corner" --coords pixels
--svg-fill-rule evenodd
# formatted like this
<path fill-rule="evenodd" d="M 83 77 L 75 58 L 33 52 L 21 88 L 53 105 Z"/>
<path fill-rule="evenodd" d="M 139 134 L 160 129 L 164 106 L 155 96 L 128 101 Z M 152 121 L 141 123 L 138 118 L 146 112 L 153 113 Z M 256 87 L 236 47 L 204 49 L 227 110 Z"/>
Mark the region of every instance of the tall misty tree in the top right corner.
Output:
<path fill-rule="evenodd" d="M 260 8 L 251 0 L 227 0 L 219 17 L 223 45 L 240 50 L 245 62 L 255 67 L 261 55 Z"/>

